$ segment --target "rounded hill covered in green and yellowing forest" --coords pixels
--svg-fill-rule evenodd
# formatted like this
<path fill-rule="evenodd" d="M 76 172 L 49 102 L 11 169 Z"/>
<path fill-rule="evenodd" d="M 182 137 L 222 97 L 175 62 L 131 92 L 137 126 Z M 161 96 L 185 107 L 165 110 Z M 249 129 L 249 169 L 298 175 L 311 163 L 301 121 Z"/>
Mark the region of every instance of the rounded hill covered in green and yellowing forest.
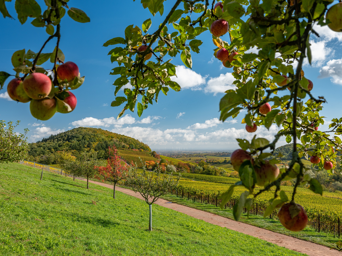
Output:
<path fill-rule="evenodd" d="M 73 155 L 77 155 L 80 152 L 92 149 L 98 152 L 100 158 L 106 158 L 109 145 L 115 145 L 117 148 L 151 151 L 147 144 L 128 136 L 100 128 L 78 127 L 51 135 L 49 138 L 44 138 L 36 143 L 30 143 L 28 159 L 43 162 L 50 158 L 46 164 L 51 164 L 58 158 L 58 152 L 71 152 Z"/>

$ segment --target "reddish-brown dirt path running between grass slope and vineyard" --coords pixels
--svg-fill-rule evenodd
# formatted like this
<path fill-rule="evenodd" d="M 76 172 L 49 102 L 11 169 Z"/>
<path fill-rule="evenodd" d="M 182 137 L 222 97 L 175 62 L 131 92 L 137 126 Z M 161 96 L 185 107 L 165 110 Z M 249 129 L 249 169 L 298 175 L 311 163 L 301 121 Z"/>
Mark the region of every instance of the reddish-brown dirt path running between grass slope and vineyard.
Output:
<path fill-rule="evenodd" d="M 113 189 L 113 185 L 109 185 L 109 184 L 105 184 L 105 183 L 101 183 L 97 181 L 89 181 L 89 182 Z M 130 189 L 121 188 L 121 187 L 116 187 L 116 189 L 117 191 L 121 191 L 122 193 L 125 193 L 127 195 L 145 200 L 139 193 L 134 193 L 134 191 Z M 306 253 L 307 255 L 310 255 L 310 256 L 342 256 L 342 252 L 338 252 L 336 250 L 329 250 L 328 247 L 323 246 L 323 245 L 303 241 L 298 238 L 286 236 L 284 234 L 276 233 L 276 232 L 269 231 L 263 228 L 258 228 L 258 227 L 255 227 L 246 223 L 233 221 L 232 219 L 228 219 L 228 218 L 215 215 L 209 212 L 190 208 L 181 204 L 169 203 L 169 201 L 164 200 L 164 199 L 158 199 L 156 201 L 156 204 L 175 210 L 177 212 L 182 212 L 184 214 L 187 214 L 197 219 L 202 219 L 203 221 L 214 224 L 214 225 L 226 227 L 231 230 L 235 230 L 244 234 L 248 234 L 253 237 L 260 238 L 267 242 L 284 246 L 285 248 L 288 248 L 293 251 Z"/>

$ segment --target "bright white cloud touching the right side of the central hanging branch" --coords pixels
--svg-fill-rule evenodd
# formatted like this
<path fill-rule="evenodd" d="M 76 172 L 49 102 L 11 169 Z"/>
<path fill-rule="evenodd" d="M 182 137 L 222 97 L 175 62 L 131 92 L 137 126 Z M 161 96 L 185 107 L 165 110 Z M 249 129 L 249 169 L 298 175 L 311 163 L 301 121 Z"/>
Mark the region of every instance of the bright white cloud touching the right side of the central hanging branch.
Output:
<path fill-rule="evenodd" d="M 206 83 L 206 77 L 185 66 L 177 66 L 176 75 L 171 76 L 170 79 L 178 83 L 182 89 L 200 90 L 200 86 Z"/>

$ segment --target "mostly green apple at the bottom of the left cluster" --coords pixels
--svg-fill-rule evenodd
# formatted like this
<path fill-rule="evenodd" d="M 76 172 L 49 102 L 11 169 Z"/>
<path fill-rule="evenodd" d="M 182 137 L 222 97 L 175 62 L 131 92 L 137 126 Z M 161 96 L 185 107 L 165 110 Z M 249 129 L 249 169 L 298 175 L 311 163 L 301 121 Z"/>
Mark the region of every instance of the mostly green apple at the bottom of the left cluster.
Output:
<path fill-rule="evenodd" d="M 42 100 L 31 100 L 30 111 L 33 117 L 39 120 L 50 119 L 57 111 L 56 100 L 45 98 Z"/>

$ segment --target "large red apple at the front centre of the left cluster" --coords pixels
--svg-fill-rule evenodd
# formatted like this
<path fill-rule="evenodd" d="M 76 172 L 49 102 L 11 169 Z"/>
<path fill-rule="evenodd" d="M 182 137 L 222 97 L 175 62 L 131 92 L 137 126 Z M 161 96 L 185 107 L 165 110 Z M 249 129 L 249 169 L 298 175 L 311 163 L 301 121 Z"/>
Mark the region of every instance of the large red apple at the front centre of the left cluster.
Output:
<path fill-rule="evenodd" d="M 28 97 L 40 100 L 49 95 L 52 89 L 50 78 L 43 73 L 31 73 L 26 76 L 23 88 Z"/>

